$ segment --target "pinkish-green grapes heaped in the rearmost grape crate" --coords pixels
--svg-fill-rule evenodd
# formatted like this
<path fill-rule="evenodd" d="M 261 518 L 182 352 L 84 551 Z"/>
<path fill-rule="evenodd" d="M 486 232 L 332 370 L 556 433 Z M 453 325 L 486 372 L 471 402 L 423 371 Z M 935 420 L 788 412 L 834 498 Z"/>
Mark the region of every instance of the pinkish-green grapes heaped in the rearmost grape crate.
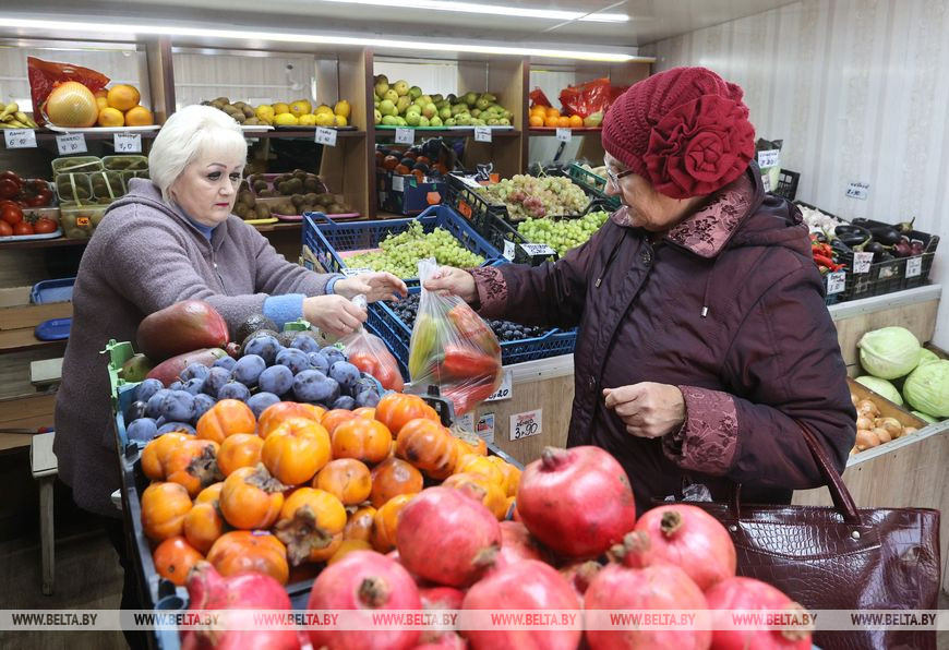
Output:
<path fill-rule="evenodd" d="M 561 176 L 517 174 L 486 185 L 479 193 L 492 203 L 503 203 L 514 221 L 551 215 L 578 215 L 587 207 L 587 195 L 570 179 Z"/>

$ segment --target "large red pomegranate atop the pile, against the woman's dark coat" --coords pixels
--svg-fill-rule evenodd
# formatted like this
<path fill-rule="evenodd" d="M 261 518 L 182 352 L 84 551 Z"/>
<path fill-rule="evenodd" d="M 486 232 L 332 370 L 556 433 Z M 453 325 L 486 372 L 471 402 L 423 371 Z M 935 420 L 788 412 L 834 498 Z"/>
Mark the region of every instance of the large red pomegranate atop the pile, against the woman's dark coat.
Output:
<path fill-rule="evenodd" d="M 605 552 L 636 525 L 626 472 L 599 447 L 546 447 L 527 466 L 517 513 L 542 543 L 568 557 Z"/>

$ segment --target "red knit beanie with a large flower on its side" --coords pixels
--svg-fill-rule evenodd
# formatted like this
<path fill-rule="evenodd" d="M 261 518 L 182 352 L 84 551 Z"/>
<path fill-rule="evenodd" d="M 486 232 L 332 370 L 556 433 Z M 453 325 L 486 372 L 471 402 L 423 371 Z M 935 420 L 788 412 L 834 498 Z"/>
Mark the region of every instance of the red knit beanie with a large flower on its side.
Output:
<path fill-rule="evenodd" d="M 666 196 L 711 194 L 744 173 L 755 155 L 742 95 L 706 68 L 653 74 L 610 107 L 603 148 Z"/>

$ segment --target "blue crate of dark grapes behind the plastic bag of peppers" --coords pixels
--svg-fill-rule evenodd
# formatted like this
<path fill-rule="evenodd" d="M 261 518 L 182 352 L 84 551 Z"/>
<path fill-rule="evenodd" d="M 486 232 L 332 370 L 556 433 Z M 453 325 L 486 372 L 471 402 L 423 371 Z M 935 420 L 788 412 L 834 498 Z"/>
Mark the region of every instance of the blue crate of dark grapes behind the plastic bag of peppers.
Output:
<path fill-rule="evenodd" d="M 420 287 L 412 287 L 409 289 L 409 294 L 416 294 L 420 291 Z M 376 302 L 369 306 L 369 316 L 365 323 L 373 334 L 385 341 L 386 347 L 398 361 L 403 377 L 408 381 L 411 327 L 383 302 Z M 498 342 L 501 344 L 502 365 L 510 365 L 524 361 L 560 357 L 561 354 L 573 354 L 577 345 L 577 332 L 576 329 L 569 332 L 550 329 L 539 337 Z"/>

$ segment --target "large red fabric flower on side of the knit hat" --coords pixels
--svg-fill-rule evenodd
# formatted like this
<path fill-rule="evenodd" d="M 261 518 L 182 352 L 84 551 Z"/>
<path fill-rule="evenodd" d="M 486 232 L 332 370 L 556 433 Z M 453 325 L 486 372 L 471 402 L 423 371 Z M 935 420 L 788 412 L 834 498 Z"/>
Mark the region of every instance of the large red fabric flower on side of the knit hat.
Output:
<path fill-rule="evenodd" d="M 644 161 L 653 186 L 673 198 L 710 194 L 738 178 L 755 155 L 748 109 L 720 95 L 676 107 L 649 134 Z"/>

